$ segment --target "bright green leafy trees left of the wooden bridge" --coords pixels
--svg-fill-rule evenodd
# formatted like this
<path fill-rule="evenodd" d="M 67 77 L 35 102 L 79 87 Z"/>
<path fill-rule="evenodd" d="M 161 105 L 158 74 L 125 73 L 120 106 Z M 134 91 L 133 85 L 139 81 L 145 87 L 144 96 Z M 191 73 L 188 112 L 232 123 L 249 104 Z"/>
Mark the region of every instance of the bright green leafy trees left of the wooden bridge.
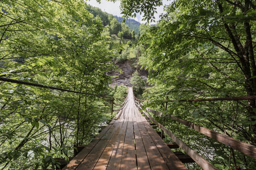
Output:
<path fill-rule="evenodd" d="M 1 1 L 1 76 L 108 95 L 104 22 L 82 1 Z M 0 169 L 55 168 L 110 115 L 110 99 L 1 82 Z M 57 165 L 58 166 L 58 165 Z"/>

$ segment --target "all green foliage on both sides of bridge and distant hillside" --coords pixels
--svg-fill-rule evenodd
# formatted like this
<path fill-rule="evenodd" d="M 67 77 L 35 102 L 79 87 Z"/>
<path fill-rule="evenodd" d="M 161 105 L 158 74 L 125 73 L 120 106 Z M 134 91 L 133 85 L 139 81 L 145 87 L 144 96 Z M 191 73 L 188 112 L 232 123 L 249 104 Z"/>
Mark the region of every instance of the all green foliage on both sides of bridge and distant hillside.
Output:
<path fill-rule="evenodd" d="M 110 0 L 111 1 L 111 0 Z M 112 0 L 115 1 L 115 0 Z M 163 100 L 256 95 L 255 3 L 176 0 L 156 25 L 129 26 L 83 1 L 2 0 L 0 76 L 115 97 L 114 62 L 132 58 L 148 70 L 150 87 L 131 78 L 145 106 Z M 121 0 L 124 16 L 152 21 L 158 1 Z M 129 20 L 126 20 L 126 22 Z M 127 24 L 127 23 L 126 23 Z M 131 27 L 135 27 L 133 31 Z M 73 147 L 89 143 L 111 118 L 109 97 L 0 82 L 0 169 L 54 169 Z M 119 107 L 116 107 L 119 108 Z M 173 115 L 256 145 L 255 101 L 170 102 L 164 125 L 219 169 L 254 169 L 250 157 L 169 119 Z M 165 139 L 171 141 L 169 137 Z M 189 169 L 200 169 L 188 164 Z"/>

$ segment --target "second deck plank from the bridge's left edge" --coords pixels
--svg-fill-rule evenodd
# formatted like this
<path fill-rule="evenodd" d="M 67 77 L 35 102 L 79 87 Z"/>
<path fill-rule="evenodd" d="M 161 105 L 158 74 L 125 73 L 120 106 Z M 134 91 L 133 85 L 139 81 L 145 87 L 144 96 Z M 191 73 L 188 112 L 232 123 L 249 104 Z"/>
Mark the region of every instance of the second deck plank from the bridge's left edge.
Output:
<path fill-rule="evenodd" d="M 121 127 L 122 121 L 117 120 L 109 129 L 109 131 L 99 140 L 98 144 L 92 149 L 92 151 L 85 157 L 81 164 L 76 168 L 78 170 L 93 169 L 97 163 L 100 155 L 103 153 L 108 141 L 111 139 L 112 135 L 116 130 Z"/>

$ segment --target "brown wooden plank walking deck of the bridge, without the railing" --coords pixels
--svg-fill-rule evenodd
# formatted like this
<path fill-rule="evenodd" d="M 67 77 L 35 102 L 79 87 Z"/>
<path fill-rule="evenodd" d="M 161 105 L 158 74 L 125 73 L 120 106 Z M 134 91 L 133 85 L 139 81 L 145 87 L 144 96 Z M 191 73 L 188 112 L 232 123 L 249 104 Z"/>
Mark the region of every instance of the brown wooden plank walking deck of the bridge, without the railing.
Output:
<path fill-rule="evenodd" d="M 186 169 L 136 108 L 132 88 L 118 120 L 64 167 L 71 169 Z"/>

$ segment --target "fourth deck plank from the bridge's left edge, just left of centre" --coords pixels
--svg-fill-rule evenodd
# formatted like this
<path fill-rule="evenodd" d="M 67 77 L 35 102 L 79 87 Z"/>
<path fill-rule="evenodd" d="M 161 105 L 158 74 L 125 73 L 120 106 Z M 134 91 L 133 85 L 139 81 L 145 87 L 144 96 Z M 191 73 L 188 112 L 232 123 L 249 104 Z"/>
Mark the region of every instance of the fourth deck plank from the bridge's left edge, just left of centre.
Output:
<path fill-rule="evenodd" d="M 121 129 L 120 135 L 118 136 L 118 139 L 116 141 L 116 145 L 114 146 L 114 149 L 112 151 L 111 158 L 110 158 L 108 166 L 107 166 L 107 170 L 120 169 L 127 123 L 128 123 L 127 119 L 124 119 L 123 126 Z"/>

